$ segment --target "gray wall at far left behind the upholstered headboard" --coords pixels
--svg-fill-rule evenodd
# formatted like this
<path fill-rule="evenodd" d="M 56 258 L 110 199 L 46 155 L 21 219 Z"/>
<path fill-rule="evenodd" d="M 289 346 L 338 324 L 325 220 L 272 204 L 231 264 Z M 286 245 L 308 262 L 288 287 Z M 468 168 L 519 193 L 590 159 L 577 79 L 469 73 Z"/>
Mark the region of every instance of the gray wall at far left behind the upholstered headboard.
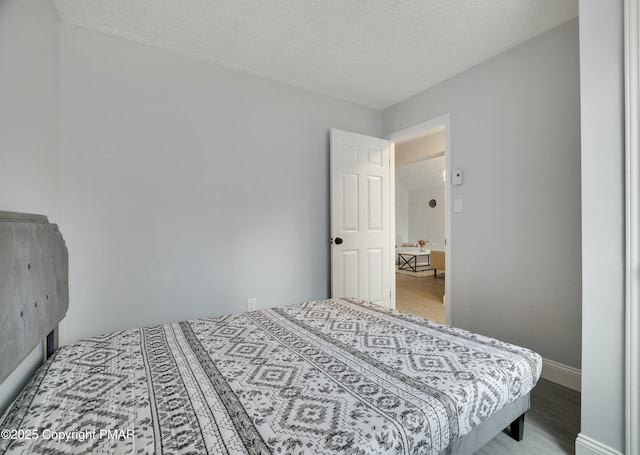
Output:
<path fill-rule="evenodd" d="M 58 222 L 58 15 L 51 2 L 0 1 L 0 210 Z M 39 349 L 0 384 L 0 414 L 40 361 Z"/>

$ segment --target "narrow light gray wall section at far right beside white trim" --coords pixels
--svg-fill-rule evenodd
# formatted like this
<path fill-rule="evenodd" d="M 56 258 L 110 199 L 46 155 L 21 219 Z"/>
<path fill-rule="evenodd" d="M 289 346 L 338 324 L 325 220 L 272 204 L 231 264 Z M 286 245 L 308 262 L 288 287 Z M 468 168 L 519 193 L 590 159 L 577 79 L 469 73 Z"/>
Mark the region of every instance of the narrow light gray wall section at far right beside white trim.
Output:
<path fill-rule="evenodd" d="M 624 451 L 623 2 L 580 1 L 581 436 Z M 597 246 L 596 257 L 590 252 Z M 580 439 L 579 441 L 580 442 Z M 581 444 L 576 453 L 590 454 Z"/>

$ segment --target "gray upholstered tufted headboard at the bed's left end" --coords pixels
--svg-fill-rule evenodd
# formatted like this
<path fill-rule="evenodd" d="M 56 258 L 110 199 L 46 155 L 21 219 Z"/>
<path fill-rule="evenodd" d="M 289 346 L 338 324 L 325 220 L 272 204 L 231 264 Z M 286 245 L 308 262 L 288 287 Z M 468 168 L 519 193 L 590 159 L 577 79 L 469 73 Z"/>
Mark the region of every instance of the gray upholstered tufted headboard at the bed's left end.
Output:
<path fill-rule="evenodd" d="M 0 211 L 0 382 L 69 308 L 69 256 L 46 216 Z"/>

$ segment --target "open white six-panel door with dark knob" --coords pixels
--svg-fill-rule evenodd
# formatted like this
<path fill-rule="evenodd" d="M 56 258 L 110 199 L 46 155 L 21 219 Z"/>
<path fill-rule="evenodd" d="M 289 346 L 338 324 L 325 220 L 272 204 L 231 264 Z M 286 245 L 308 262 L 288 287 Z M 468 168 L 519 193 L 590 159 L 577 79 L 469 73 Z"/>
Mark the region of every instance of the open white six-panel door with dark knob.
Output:
<path fill-rule="evenodd" d="M 389 141 L 331 130 L 331 295 L 391 306 Z"/>

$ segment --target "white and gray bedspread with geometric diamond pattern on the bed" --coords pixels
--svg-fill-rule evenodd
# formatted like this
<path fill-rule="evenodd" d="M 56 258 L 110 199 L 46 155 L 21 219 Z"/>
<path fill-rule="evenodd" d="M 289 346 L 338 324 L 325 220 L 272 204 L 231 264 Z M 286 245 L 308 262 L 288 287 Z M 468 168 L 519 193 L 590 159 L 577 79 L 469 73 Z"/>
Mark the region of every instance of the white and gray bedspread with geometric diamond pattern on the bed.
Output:
<path fill-rule="evenodd" d="M 437 454 L 541 368 L 355 300 L 126 330 L 62 347 L 3 416 L 0 453 Z"/>

